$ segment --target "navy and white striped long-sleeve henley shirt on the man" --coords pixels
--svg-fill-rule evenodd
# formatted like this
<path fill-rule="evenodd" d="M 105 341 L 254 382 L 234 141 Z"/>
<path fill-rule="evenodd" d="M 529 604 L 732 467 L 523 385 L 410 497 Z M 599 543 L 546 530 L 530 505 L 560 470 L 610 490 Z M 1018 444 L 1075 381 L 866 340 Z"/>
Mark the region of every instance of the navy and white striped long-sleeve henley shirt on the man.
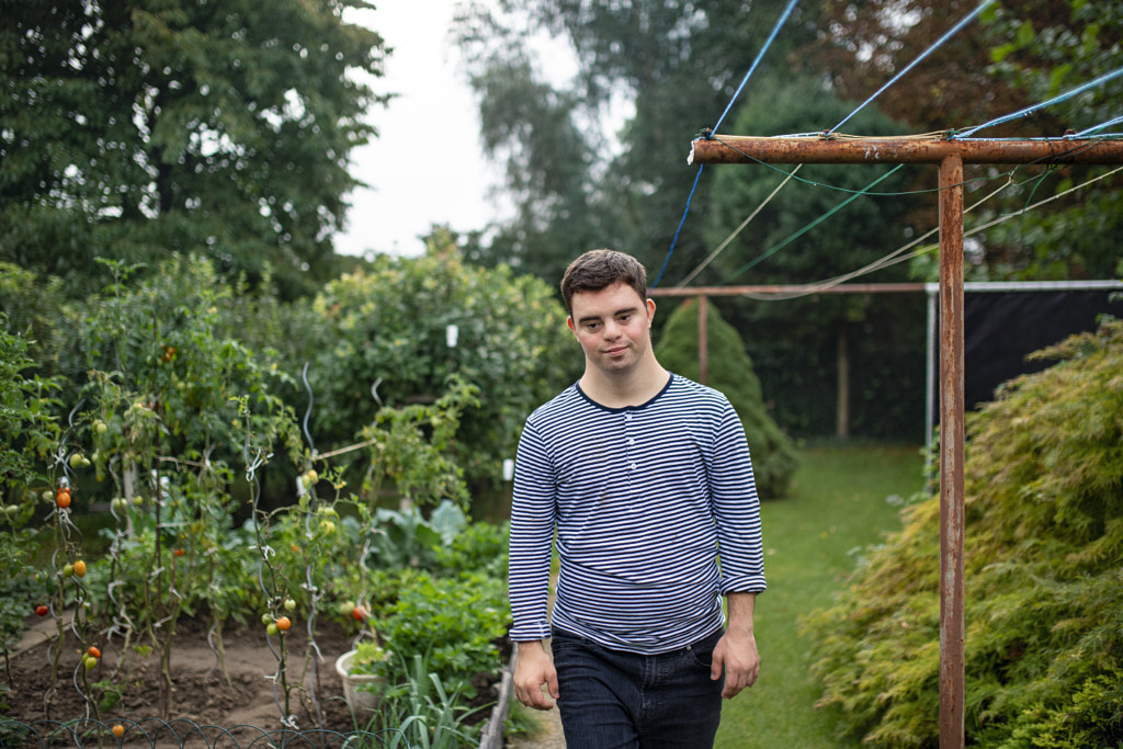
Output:
<path fill-rule="evenodd" d="M 685 647 L 721 625 L 721 594 L 765 590 L 741 421 L 724 395 L 677 375 L 623 409 L 574 384 L 527 420 L 511 509 L 515 641 L 549 637 L 555 529 L 554 624 L 604 647 Z"/>

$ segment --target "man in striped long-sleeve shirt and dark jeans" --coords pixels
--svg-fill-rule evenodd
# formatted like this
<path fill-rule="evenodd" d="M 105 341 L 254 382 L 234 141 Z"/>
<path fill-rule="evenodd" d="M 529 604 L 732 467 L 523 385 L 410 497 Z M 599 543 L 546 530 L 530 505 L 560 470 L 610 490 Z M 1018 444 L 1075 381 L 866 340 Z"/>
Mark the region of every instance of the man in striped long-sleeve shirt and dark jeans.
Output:
<path fill-rule="evenodd" d="M 764 555 L 745 431 L 721 393 L 659 366 L 655 302 L 633 257 L 582 255 L 562 295 L 585 372 L 519 441 L 515 695 L 538 710 L 556 700 L 573 749 L 711 747 L 721 698 L 759 670 Z"/>

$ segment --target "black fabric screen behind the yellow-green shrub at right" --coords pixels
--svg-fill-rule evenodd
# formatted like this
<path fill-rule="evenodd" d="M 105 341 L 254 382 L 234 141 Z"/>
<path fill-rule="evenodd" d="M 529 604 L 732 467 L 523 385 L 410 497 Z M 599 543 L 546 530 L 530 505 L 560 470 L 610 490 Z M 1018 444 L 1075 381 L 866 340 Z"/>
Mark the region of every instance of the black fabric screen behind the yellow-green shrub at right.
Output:
<path fill-rule="evenodd" d="M 993 400 L 995 387 L 1007 380 L 1053 364 L 1026 362 L 1028 354 L 1074 334 L 1095 330 L 1104 313 L 1123 318 L 1123 300 L 1111 301 L 1113 294 L 1119 296 L 1120 292 L 966 292 L 964 402 L 967 409 Z M 933 360 L 939 368 L 939 351 Z"/>

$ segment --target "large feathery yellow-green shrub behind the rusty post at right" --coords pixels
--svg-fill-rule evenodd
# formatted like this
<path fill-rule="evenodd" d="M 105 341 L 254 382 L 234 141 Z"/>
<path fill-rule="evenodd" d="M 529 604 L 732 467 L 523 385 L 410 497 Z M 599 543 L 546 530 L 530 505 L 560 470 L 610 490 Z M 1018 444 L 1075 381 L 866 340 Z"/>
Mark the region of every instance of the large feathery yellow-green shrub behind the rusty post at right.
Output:
<path fill-rule="evenodd" d="M 1051 368 L 968 414 L 967 746 L 1123 746 L 1123 322 L 1040 351 Z M 939 496 L 804 624 L 840 732 L 939 734 Z"/>

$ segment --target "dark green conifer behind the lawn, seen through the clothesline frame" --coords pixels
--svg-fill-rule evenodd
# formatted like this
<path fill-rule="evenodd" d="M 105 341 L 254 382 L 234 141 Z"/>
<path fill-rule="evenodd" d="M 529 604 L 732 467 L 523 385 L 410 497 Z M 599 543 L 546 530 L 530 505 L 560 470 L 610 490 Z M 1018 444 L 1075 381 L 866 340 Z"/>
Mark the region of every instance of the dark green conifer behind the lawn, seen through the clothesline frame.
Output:
<path fill-rule="evenodd" d="M 805 133 L 831 127 L 857 104 L 838 100 L 813 79 L 757 81 L 759 97 L 736 112 L 742 134 Z M 867 107 L 848 131 L 869 136 L 902 133 L 903 126 Z M 858 271 L 906 240 L 917 195 L 931 172 L 892 166 L 805 165 L 769 200 L 795 167 L 715 167 L 714 194 L 704 218 L 711 246 L 732 237 L 693 282 L 699 285 L 793 284 L 827 281 Z M 867 191 L 862 194 L 862 191 Z M 920 193 L 922 197 L 924 193 Z M 734 231 L 746 217 L 752 222 Z M 923 214 L 934 226 L 933 213 Z M 904 265 L 862 281 L 903 281 Z M 917 295 L 919 296 L 919 295 Z M 823 294 L 777 302 L 722 302 L 746 336 L 776 419 L 800 435 L 862 435 L 914 438 L 922 423 L 924 307 L 917 299 L 884 294 Z M 783 331 L 784 335 L 770 335 Z M 844 377 L 847 367 L 852 369 Z M 850 423 L 837 419 L 837 381 L 858 383 L 842 394 Z M 875 386 L 874 383 L 877 383 Z M 910 408 L 910 404 L 915 404 Z"/>

